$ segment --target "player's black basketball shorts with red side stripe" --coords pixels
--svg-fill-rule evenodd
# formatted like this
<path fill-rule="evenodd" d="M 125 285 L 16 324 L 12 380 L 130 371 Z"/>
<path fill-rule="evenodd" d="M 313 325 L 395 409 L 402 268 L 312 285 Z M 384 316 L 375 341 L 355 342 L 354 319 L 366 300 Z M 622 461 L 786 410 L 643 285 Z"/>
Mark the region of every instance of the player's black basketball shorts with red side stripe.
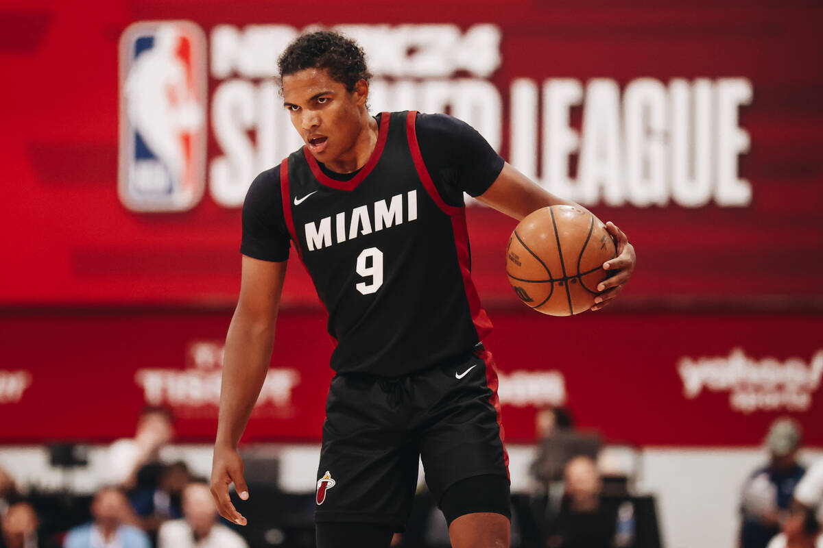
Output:
<path fill-rule="evenodd" d="M 495 363 L 481 345 L 398 379 L 336 375 L 326 403 L 314 520 L 393 523 L 402 531 L 419 460 L 439 504 L 450 486 L 468 477 L 509 477 L 503 437 Z"/>

